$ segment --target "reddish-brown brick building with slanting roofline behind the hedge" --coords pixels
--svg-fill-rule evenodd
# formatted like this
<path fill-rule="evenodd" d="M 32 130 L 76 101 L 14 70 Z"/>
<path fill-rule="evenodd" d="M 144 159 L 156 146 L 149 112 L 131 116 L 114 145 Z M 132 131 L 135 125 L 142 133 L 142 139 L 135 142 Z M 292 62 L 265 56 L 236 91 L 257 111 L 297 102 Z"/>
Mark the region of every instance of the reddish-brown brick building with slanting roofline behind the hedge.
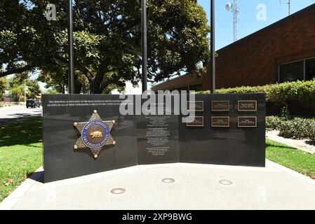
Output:
<path fill-rule="evenodd" d="M 315 4 L 220 50 L 217 88 L 256 86 L 315 78 Z M 186 74 L 152 90 L 209 90 L 209 71 Z"/>

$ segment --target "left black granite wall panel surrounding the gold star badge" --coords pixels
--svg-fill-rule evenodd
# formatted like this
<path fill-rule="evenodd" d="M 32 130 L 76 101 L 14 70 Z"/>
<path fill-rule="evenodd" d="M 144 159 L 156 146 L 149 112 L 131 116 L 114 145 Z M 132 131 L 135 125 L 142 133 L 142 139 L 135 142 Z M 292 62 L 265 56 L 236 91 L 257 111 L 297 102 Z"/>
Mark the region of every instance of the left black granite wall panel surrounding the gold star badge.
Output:
<path fill-rule="evenodd" d="M 120 115 L 118 95 L 45 94 L 42 102 L 45 182 L 137 165 L 135 117 Z M 87 146 L 74 148 L 81 138 L 74 123 L 88 122 L 95 110 L 103 121 L 115 120 L 116 144 L 102 147 L 98 158 Z"/>

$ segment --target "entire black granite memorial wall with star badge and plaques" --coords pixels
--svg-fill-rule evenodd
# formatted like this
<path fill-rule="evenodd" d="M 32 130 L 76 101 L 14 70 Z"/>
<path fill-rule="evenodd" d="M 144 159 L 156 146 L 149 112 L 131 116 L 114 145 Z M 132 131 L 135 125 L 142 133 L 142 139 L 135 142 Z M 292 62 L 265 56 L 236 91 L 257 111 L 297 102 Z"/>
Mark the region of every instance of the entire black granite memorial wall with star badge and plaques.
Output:
<path fill-rule="evenodd" d="M 137 97 L 128 96 L 134 113 Z M 168 115 L 123 116 L 119 95 L 45 94 L 42 101 L 46 183 L 135 165 L 265 165 L 264 94 L 197 94 L 187 105 L 196 116 L 186 123 L 173 104 Z M 98 137 L 107 144 L 98 148 Z"/>

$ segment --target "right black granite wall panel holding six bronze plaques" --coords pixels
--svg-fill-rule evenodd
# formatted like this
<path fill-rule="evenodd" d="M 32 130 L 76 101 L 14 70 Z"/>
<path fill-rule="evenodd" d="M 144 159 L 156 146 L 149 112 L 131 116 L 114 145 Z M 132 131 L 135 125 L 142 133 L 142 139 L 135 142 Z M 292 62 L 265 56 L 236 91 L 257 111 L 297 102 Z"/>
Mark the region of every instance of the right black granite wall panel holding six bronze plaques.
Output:
<path fill-rule="evenodd" d="M 264 94 L 196 94 L 196 101 L 205 104 L 203 112 L 196 112 L 204 127 L 179 123 L 180 162 L 264 167 Z M 241 102 L 253 106 L 253 101 L 256 109 L 239 109 Z M 257 122 L 240 125 L 239 118 Z"/>

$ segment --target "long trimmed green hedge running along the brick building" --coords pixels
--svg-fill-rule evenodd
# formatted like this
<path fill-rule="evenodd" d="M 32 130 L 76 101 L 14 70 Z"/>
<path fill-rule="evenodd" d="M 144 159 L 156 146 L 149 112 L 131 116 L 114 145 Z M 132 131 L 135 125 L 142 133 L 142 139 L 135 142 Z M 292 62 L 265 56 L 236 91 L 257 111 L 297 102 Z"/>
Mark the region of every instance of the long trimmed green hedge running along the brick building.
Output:
<path fill-rule="evenodd" d="M 280 83 L 255 87 L 235 87 L 217 90 L 217 93 L 253 93 L 264 92 L 268 102 L 283 104 L 286 101 L 300 101 L 304 104 L 315 102 L 315 80 L 297 81 L 293 83 Z M 209 93 L 197 92 L 197 94 Z"/>

